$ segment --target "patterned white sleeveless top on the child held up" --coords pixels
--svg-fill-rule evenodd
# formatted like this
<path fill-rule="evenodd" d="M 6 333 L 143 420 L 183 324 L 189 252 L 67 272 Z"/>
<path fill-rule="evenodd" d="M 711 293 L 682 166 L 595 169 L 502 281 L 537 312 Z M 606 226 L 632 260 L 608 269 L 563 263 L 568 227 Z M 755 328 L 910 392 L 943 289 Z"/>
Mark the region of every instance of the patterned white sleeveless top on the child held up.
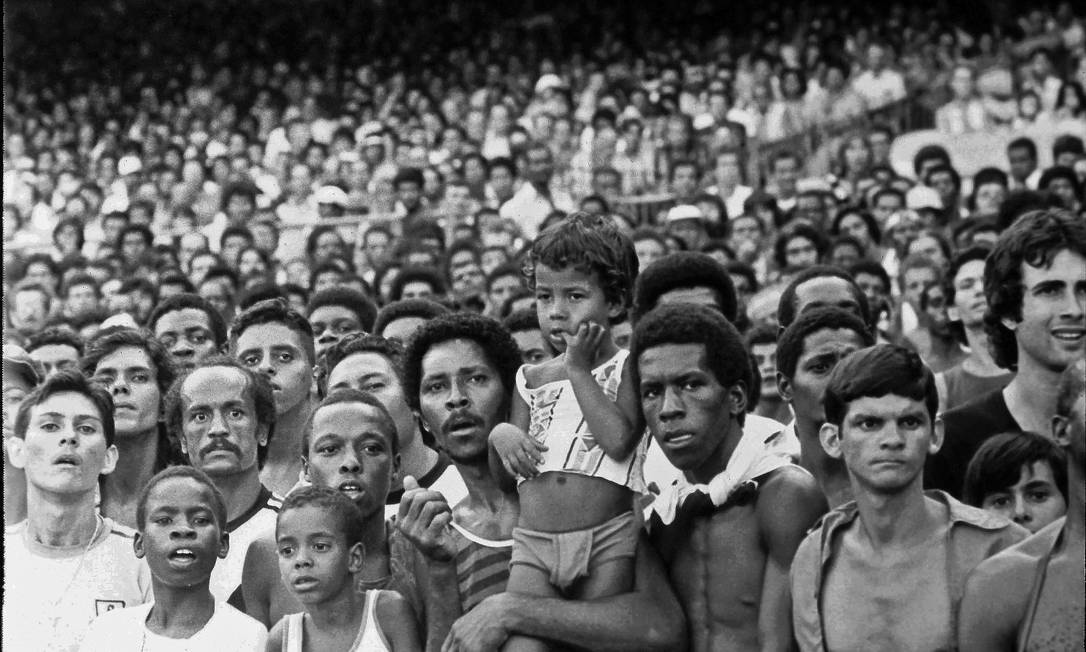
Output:
<path fill-rule="evenodd" d="M 619 349 L 609 360 L 592 369 L 601 389 L 611 401 L 618 398 L 622 381 L 622 367 L 630 352 Z M 534 389 L 528 388 L 525 367 L 517 371 L 517 391 L 528 403 L 531 422 L 528 435 L 547 450 L 543 452 L 540 473 L 561 471 L 603 478 L 616 485 L 644 493 L 645 480 L 642 466 L 648 438 L 644 434 L 633 452 L 623 460 L 607 456 L 589 431 L 589 425 L 577 402 L 573 386 L 568 379 L 552 380 Z M 521 478 L 522 479 L 522 478 Z"/>

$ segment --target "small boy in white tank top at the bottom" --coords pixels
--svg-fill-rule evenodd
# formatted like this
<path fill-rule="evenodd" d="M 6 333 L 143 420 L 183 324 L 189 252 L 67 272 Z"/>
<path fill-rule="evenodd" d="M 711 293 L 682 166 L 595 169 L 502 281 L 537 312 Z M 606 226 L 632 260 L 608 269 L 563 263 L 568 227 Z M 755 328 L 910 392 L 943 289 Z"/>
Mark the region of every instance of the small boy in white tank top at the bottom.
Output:
<path fill-rule="evenodd" d="M 287 498 L 276 523 L 279 570 L 305 611 L 272 628 L 269 651 L 421 650 L 403 597 L 355 590 L 364 536 L 362 512 L 340 491 L 311 486 Z"/>

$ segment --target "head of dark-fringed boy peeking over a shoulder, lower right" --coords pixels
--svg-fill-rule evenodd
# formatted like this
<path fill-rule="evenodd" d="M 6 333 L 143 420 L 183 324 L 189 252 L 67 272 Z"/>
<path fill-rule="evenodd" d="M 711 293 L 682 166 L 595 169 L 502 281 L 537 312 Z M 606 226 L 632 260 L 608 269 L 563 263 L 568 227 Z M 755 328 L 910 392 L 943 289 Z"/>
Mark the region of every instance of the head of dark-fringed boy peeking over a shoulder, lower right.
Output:
<path fill-rule="evenodd" d="M 981 444 L 965 469 L 965 504 L 1036 532 L 1068 511 L 1066 455 L 1036 432 L 1003 432 Z"/>

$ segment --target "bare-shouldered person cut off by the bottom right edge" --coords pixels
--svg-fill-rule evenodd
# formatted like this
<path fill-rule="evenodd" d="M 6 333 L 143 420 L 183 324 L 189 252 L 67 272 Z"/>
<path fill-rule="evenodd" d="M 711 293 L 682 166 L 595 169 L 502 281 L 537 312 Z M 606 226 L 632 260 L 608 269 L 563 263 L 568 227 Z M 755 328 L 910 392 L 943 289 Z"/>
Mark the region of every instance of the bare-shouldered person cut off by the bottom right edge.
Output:
<path fill-rule="evenodd" d="M 965 584 L 962 652 L 1082 650 L 1086 619 L 1086 362 L 1060 378 L 1055 439 L 1068 451 L 1068 515 L 985 560 Z"/>

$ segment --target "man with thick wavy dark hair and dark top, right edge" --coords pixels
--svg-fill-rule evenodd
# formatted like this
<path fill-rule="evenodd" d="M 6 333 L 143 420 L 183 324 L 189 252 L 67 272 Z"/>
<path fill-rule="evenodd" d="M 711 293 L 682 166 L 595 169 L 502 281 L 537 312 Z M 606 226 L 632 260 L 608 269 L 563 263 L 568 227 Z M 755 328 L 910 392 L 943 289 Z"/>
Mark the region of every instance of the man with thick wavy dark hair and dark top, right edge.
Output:
<path fill-rule="evenodd" d="M 1048 429 L 1060 374 L 1086 354 L 1086 224 L 1062 210 L 1024 214 L 988 255 L 984 293 L 996 364 L 1015 376 L 943 415 L 946 443 L 929 461 L 924 484 L 955 497 L 986 439 Z"/>

